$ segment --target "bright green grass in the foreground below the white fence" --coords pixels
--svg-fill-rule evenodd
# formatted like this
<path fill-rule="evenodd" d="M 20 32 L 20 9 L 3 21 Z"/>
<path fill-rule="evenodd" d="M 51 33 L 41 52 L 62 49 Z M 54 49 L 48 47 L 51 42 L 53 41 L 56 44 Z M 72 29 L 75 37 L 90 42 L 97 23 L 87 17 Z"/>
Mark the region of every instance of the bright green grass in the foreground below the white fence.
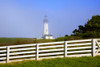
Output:
<path fill-rule="evenodd" d="M 100 67 L 100 56 L 22 61 L 0 64 L 0 67 Z"/>

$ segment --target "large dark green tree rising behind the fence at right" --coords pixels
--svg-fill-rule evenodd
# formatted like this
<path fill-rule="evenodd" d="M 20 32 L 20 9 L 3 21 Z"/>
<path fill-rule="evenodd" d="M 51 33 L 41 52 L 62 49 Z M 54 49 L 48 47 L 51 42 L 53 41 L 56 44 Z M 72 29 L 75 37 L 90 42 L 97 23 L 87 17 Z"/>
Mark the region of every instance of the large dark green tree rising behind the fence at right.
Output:
<path fill-rule="evenodd" d="M 100 37 L 100 16 L 92 16 L 92 19 L 88 20 L 84 26 L 79 25 L 78 29 L 75 29 L 72 35 L 83 38 Z"/>

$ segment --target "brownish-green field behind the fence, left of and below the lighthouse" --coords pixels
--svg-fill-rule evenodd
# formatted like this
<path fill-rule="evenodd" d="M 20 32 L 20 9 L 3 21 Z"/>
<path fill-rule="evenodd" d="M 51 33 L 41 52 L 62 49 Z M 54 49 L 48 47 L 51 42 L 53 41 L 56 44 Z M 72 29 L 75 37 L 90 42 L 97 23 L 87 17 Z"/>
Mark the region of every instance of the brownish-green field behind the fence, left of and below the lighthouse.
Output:
<path fill-rule="evenodd" d="M 35 39 L 35 38 L 0 38 L 0 46 L 29 44 L 29 43 L 43 43 L 52 42 L 53 40 Z"/>

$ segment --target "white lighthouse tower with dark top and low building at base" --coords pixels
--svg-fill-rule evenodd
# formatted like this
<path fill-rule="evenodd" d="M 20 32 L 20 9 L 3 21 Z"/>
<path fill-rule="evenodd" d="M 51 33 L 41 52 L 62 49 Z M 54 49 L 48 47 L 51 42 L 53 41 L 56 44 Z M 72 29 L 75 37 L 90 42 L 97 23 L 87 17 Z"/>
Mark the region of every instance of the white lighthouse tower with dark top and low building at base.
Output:
<path fill-rule="evenodd" d="M 43 39 L 53 39 L 53 36 L 51 34 L 49 34 L 49 30 L 48 30 L 48 19 L 47 16 L 45 16 L 44 18 L 44 29 L 43 29 Z"/>

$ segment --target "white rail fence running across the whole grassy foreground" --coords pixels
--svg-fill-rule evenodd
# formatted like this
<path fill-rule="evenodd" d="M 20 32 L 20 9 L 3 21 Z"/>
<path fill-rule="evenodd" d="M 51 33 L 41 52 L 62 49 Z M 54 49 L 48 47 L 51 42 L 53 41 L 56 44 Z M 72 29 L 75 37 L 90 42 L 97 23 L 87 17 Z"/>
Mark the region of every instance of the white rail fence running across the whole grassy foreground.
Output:
<path fill-rule="evenodd" d="M 100 39 L 24 44 L 0 47 L 0 63 L 57 57 L 100 55 Z"/>

